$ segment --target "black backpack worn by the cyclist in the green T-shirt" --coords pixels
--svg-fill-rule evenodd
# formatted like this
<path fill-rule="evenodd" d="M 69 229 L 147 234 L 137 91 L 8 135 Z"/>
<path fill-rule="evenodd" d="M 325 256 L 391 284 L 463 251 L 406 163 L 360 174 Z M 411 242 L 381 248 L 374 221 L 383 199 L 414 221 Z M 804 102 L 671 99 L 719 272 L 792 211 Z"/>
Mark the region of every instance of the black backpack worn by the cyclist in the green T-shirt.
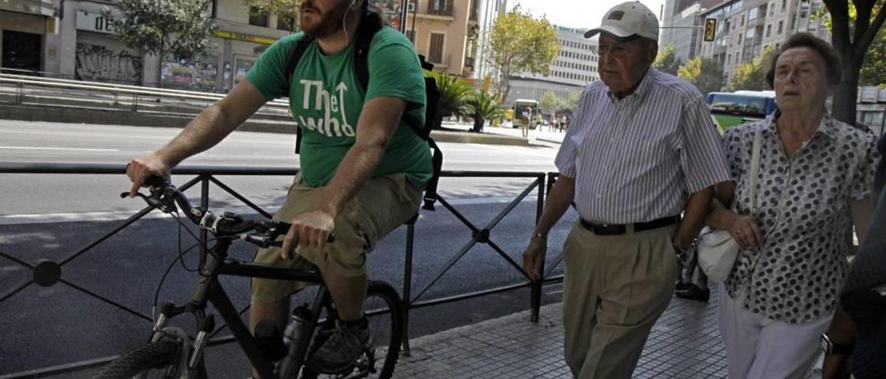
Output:
<path fill-rule="evenodd" d="M 372 43 L 372 37 L 375 36 L 382 27 L 385 26 L 378 24 L 372 18 L 364 17 L 360 22 L 360 27 L 357 28 L 357 40 L 353 52 L 354 69 L 357 73 L 357 82 L 361 86 L 363 92 L 369 87 L 369 44 Z M 310 46 L 311 43 L 314 43 L 314 41 L 315 38 L 313 37 L 308 37 L 307 35 L 303 36 L 295 44 L 295 49 L 292 49 L 289 58 L 286 60 L 286 73 L 289 74 L 289 86 L 287 88 L 292 88 L 292 74 L 295 73 L 295 66 L 299 64 L 299 60 L 305 55 L 308 46 Z M 420 55 L 419 58 L 421 59 L 422 68 L 429 71 L 434 68 L 433 65 L 424 60 L 424 56 Z M 431 150 L 433 150 L 433 156 L 431 159 L 433 164 L 433 176 L 431 177 L 431 181 L 428 182 L 428 188 L 424 190 L 423 206 L 424 209 L 433 211 L 434 203 L 437 201 L 437 183 L 439 182 L 440 169 L 443 166 L 443 152 L 440 151 L 437 143 L 431 138 L 431 129 L 435 125 L 439 125 L 440 121 L 437 118 L 437 103 L 439 103 L 440 99 L 437 81 L 433 78 L 425 77 L 424 93 L 427 98 L 427 104 L 424 108 L 424 123 L 407 114 L 411 108 L 407 108 L 403 112 L 403 121 L 406 122 L 406 124 L 412 128 L 422 140 L 427 141 L 431 146 Z M 410 106 L 414 105 L 410 104 Z M 297 128 L 295 135 L 295 152 L 298 154 L 300 151 L 301 128 Z"/>

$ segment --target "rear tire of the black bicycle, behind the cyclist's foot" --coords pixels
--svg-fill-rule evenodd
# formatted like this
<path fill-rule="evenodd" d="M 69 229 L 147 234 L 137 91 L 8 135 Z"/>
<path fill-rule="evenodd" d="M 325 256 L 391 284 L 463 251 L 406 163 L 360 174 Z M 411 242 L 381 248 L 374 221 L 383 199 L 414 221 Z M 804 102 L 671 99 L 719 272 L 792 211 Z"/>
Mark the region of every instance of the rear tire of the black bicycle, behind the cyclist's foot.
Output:
<path fill-rule="evenodd" d="M 400 344 L 403 336 L 403 302 L 397 290 L 386 282 L 369 281 L 366 291 L 366 300 L 363 303 L 363 312 L 369 318 L 370 333 L 373 337 L 372 352 L 384 352 L 384 360 L 376 361 L 374 367 L 377 367 L 376 373 L 368 373 L 367 367 L 361 367 L 361 361 L 358 360 L 354 370 L 350 375 L 330 375 L 334 378 L 377 378 L 390 379 L 393 375 L 394 368 L 397 366 L 397 360 L 400 359 Z M 369 313 L 377 313 L 369 315 Z M 330 323 L 335 321 L 326 321 L 325 325 L 317 325 L 317 329 L 330 328 Z M 315 338 L 311 345 L 308 359 L 319 348 L 323 341 Z M 361 355 L 362 364 L 367 364 L 367 354 Z M 380 364 L 379 364 L 380 363 Z M 319 374 L 307 365 L 302 370 L 302 379 L 324 378 L 326 375 Z"/>

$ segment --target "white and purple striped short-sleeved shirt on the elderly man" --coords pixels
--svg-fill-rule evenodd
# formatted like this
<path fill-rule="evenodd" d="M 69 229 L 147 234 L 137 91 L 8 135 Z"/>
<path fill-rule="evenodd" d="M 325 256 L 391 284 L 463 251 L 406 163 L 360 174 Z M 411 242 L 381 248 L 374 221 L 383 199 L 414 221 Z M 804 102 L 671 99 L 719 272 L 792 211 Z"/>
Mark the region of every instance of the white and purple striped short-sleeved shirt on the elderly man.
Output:
<path fill-rule="evenodd" d="M 730 180 L 701 92 L 654 68 L 621 100 L 587 86 L 555 164 L 575 178 L 579 216 L 602 223 L 680 214 L 689 194 Z"/>

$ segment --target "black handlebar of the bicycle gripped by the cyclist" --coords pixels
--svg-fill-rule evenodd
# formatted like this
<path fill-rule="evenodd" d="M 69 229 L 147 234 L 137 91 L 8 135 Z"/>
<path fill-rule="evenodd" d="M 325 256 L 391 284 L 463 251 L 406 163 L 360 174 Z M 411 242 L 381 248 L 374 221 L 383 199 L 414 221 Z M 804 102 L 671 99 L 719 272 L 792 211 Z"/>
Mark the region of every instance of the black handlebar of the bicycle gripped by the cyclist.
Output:
<path fill-rule="evenodd" d="M 137 195 L 142 197 L 148 205 L 152 205 L 163 213 L 174 213 L 175 205 L 178 205 L 188 216 L 188 219 L 197 224 L 199 228 L 212 232 L 215 236 L 239 236 L 240 239 L 260 247 L 280 247 L 283 242 L 277 241 L 277 237 L 284 236 L 292 227 L 292 224 L 284 221 L 244 220 L 237 213 L 213 213 L 202 208 L 195 208 L 190 205 L 188 197 L 185 197 L 182 191 L 159 176 L 150 176 L 144 183 L 150 186 L 151 195 L 145 196 L 141 192 Z M 128 195 L 127 192 L 124 192 L 120 194 L 120 197 L 128 197 Z M 251 231 L 257 233 L 249 234 Z M 335 242 L 335 235 L 330 234 L 326 241 Z"/>

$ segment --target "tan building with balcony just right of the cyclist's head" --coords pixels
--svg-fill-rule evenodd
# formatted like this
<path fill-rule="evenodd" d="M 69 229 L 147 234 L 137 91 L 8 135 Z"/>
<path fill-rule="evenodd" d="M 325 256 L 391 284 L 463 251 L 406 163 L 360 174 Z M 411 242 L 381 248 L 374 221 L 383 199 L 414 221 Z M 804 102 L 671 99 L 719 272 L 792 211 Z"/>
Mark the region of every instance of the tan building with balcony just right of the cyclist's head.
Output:
<path fill-rule="evenodd" d="M 470 78 L 477 64 L 478 0 L 410 0 L 406 35 L 435 70 Z"/>

